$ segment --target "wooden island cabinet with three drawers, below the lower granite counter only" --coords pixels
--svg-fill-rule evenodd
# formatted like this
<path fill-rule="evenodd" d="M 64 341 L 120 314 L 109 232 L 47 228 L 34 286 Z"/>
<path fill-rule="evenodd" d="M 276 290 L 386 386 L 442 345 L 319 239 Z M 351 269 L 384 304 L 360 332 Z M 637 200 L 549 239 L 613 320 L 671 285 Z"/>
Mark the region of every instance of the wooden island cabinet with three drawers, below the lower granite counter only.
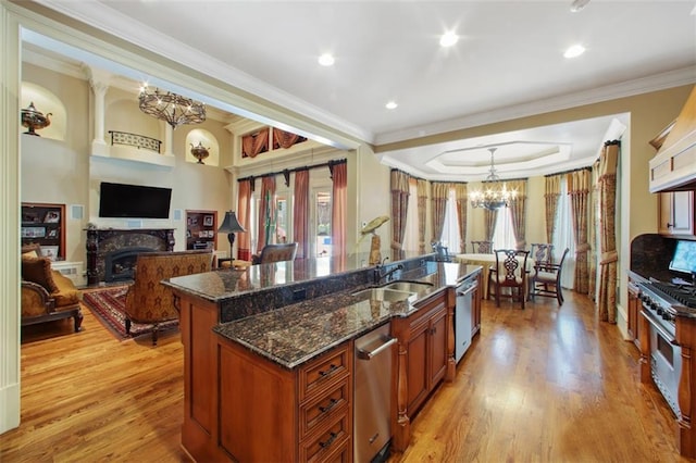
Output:
<path fill-rule="evenodd" d="M 352 341 L 295 371 L 222 337 L 217 354 L 220 447 L 232 459 L 352 460 Z"/>

